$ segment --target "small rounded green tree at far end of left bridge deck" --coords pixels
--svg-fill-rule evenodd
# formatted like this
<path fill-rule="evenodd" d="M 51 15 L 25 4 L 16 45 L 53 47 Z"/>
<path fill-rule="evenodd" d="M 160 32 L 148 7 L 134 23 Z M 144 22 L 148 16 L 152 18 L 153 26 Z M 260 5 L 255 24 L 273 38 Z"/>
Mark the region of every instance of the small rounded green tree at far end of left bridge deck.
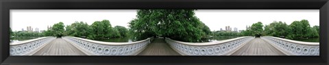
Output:
<path fill-rule="evenodd" d="M 62 37 L 63 36 L 63 32 L 64 32 L 64 23 L 63 22 L 59 22 L 57 24 L 53 24 L 53 27 L 51 28 L 52 32 L 53 32 L 53 36 L 55 37 Z"/>

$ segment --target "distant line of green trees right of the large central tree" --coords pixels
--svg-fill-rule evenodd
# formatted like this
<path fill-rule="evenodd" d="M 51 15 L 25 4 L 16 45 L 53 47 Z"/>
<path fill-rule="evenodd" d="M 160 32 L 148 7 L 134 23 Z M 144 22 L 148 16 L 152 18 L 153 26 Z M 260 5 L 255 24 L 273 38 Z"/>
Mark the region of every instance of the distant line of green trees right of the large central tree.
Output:
<path fill-rule="evenodd" d="M 311 27 L 308 20 L 294 21 L 291 24 L 285 22 L 272 22 L 263 26 L 262 22 L 252 24 L 242 32 L 212 31 L 218 37 L 240 37 L 240 36 L 273 36 L 287 39 L 308 39 L 319 37 L 319 26 Z"/>

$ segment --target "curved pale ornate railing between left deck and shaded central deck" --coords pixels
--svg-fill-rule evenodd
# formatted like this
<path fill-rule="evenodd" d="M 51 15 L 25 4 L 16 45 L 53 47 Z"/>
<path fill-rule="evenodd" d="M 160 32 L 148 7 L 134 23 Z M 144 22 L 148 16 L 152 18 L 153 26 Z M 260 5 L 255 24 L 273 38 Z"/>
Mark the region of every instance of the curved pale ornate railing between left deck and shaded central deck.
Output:
<path fill-rule="evenodd" d="M 63 37 L 88 56 L 134 56 L 143 51 L 153 38 L 128 43 L 93 41 L 79 37 Z"/>

